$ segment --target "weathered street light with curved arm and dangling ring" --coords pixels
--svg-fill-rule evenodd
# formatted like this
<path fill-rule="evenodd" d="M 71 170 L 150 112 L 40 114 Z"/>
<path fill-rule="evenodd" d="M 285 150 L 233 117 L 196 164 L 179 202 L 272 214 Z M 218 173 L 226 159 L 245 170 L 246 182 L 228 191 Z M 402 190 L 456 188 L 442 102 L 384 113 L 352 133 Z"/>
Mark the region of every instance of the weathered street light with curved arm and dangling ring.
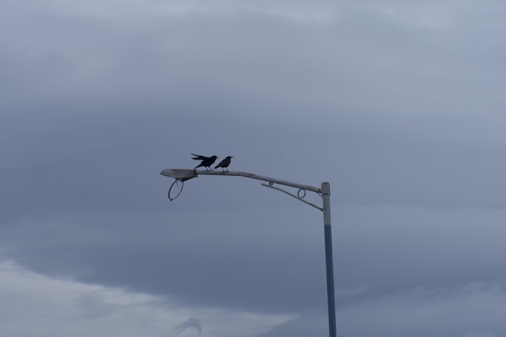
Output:
<path fill-rule="evenodd" d="M 168 197 L 171 200 L 176 199 L 181 194 L 184 182 L 196 178 L 199 174 L 205 175 L 229 175 L 229 176 L 241 176 L 251 179 L 263 180 L 268 183 L 262 183 L 262 186 L 274 188 L 287 195 L 298 199 L 314 208 L 319 209 L 323 212 L 323 228 L 325 232 L 325 265 L 327 273 L 327 304 L 328 304 L 328 331 L 330 337 L 336 337 L 335 331 L 335 303 L 334 303 L 334 273 L 333 273 L 333 262 L 332 262 L 332 235 L 330 230 L 330 184 L 328 182 L 322 182 L 321 187 L 313 187 L 309 185 L 298 184 L 291 181 L 275 179 L 271 177 L 261 176 L 253 173 L 238 172 L 238 171 L 212 171 L 212 170 L 189 170 L 189 169 L 164 169 L 160 172 L 161 175 L 175 178 L 171 188 L 168 192 Z M 171 191 L 174 185 L 181 183 L 181 189 L 179 192 L 171 197 Z M 299 188 L 297 195 L 291 194 L 290 192 L 274 186 L 274 184 L 284 185 Z M 306 191 L 312 191 L 318 194 L 322 198 L 322 207 L 318 207 L 306 200 Z"/>

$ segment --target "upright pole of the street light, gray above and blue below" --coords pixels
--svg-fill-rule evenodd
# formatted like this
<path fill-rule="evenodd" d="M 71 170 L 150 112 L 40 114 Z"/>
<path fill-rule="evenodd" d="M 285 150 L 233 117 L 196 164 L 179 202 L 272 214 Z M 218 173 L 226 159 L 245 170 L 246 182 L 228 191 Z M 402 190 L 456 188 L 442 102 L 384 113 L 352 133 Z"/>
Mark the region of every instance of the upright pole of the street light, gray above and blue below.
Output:
<path fill-rule="evenodd" d="M 325 232 L 325 265 L 327 270 L 327 304 L 328 304 L 328 334 L 336 337 L 335 331 L 335 298 L 334 298 L 334 268 L 332 261 L 332 232 L 330 230 L 330 184 L 321 183 L 323 198 L 323 228 Z"/>

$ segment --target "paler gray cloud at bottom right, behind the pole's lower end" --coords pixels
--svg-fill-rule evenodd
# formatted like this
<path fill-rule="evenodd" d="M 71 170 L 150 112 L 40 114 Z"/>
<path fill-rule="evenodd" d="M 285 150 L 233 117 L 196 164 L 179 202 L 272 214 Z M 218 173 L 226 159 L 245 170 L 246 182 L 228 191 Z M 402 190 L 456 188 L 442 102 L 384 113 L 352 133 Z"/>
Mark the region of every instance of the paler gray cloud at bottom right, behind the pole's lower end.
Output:
<path fill-rule="evenodd" d="M 426 336 L 498 336 L 504 326 L 503 284 L 468 284 L 460 288 L 416 288 L 355 302 L 338 309 L 338 334 Z M 275 327 L 258 337 L 325 335 L 323 313 L 306 312 L 299 319 Z"/>

